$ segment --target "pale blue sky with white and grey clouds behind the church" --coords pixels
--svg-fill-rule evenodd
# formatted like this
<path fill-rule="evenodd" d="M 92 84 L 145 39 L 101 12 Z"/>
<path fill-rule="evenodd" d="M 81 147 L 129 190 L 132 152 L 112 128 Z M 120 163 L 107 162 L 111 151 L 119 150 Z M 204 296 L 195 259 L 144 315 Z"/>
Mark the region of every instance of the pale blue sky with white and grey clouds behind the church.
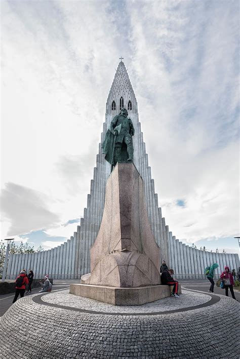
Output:
<path fill-rule="evenodd" d="M 49 249 L 76 230 L 123 56 L 170 230 L 198 248 L 236 253 L 239 3 L 1 7 L 1 238 Z"/>

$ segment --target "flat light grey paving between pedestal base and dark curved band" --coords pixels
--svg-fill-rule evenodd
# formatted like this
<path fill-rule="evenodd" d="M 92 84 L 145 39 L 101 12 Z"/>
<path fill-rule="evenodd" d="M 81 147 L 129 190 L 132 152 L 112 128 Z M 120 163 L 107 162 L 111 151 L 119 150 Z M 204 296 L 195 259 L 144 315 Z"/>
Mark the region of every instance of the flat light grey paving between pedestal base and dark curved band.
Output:
<path fill-rule="evenodd" d="M 61 293 L 51 293 L 42 297 L 48 303 L 63 305 L 67 307 L 81 308 L 86 310 L 101 311 L 107 313 L 154 313 L 173 309 L 187 308 L 203 304 L 211 300 L 207 294 L 191 293 L 182 291 L 180 298 L 168 297 L 143 305 L 113 305 L 99 302 L 94 299 L 78 297 L 69 294 L 69 290 Z"/>

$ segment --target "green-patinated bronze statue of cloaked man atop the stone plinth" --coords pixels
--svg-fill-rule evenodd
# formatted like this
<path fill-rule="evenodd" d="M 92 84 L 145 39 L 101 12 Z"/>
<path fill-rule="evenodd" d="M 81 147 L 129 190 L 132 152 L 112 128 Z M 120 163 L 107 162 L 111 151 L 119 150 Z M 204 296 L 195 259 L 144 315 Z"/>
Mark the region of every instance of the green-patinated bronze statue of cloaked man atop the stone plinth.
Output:
<path fill-rule="evenodd" d="M 109 126 L 102 144 L 102 152 L 105 159 L 111 165 L 111 171 L 117 162 L 133 162 L 134 127 L 132 120 L 128 118 L 128 111 L 122 108 Z"/>

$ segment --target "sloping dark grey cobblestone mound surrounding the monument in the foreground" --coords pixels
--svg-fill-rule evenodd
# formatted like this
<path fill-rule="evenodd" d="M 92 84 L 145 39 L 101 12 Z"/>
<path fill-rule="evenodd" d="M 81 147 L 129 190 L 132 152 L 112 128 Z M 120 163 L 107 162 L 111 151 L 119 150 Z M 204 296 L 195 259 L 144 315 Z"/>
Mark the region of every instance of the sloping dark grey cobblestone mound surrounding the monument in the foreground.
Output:
<path fill-rule="evenodd" d="M 107 315 L 19 299 L 0 323 L 1 358 L 238 357 L 239 303 L 162 315 Z M 223 340 L 226 338 L 227 342 Z"/>

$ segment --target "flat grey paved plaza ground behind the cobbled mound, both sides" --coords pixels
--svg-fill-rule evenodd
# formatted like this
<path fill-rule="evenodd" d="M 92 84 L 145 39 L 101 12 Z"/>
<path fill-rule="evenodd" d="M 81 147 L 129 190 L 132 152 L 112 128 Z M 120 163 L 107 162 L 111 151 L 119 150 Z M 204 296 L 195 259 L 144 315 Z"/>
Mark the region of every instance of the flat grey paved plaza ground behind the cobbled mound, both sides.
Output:
<path fill-rule="evenodd" d="M 54 280 L 53 291 L 61 291 L 63 289 L 68 289 L 70 283 L 79 283 L 79 280 Z M 210 282 L 208 280 L 179 280 L 181 286 L 186 289 L 207 292 L 210 288 Z M 32 294 L 36 294 L 41 290 L 41 288 L 34 288 Z M 219 287 L 214 287 L 214 293 L 225 295 L 225 289 Z M 240 302 L 240 292 L 234 291 L 235 297 Z M 229 291 L 229 297 L 231 298 L 231 293 Z M 12 305 L 14 298 L 14 293 L 5 294 L 0 296 L 0 316 L 2 316 Z M 19 296 L 20 298 L 20 296 Z"/>

